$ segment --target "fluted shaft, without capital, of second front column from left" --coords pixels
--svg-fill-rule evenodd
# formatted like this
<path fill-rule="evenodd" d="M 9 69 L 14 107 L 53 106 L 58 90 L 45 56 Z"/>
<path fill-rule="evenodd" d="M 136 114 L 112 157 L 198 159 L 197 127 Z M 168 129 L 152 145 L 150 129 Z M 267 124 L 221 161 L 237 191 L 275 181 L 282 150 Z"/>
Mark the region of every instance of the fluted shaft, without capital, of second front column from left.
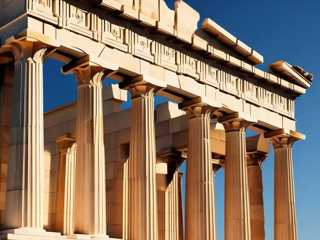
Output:
<path fill-rule="evenodd" d="M 106 235 L 102 83 L 78 87 L 76 144 L 75 232 Z"/>

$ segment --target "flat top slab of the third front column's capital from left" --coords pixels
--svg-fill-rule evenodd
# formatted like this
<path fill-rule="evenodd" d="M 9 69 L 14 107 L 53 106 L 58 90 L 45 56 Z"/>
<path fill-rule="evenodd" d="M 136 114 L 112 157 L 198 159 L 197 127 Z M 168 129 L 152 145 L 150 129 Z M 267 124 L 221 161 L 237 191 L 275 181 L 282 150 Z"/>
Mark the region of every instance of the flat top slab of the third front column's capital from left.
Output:
<path fill-rule="evenodd" d="M 167 87 L 167 84 L 164 81 L 161 81 L 157 78 L 154 78 L 148 75 L 139 75 L 131 78 L 128 81 L 123 81 L 119 83 L 119 88 L 121 89 L 134 88 L 136 86 L 146 85 L 146 84 L 151 84 L 153 86 L 157 86 L 161 88 Z"/>

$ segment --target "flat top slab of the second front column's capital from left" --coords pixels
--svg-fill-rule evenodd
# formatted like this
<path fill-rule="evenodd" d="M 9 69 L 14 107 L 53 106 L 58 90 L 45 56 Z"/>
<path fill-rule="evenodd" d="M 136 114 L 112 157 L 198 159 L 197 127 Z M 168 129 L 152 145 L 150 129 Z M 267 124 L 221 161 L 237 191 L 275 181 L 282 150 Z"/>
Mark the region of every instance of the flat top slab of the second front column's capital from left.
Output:
<path fill-rule="evenodd" d="M 110 70 L 110 74 L 115 73 L 119 69 L 119 66 L 114 63 L 107 62 L 91 55 L 85 55 L 82 58 L 75 59 L 70 63 L 64 65 L 61 68 L 61 72 L 63 74 L 70 74 L 73 73 L 75 69 L 82 68 L 83 70 L 85 70 L 87 67 L 98 67 L 98 71 Z"/>

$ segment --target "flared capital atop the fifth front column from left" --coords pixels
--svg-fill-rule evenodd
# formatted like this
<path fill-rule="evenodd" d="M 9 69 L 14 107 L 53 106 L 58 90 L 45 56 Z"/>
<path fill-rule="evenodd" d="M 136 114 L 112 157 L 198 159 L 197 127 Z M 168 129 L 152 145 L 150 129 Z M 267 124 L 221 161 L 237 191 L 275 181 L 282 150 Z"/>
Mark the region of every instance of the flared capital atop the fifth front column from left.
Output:
<path fill-rule="evenodd" d="M 245 132 L 248 127 L 258 122 L 258 119 L 243 112 L 235 112 L 218 117 L 218 122 L 227 132 Z"/>

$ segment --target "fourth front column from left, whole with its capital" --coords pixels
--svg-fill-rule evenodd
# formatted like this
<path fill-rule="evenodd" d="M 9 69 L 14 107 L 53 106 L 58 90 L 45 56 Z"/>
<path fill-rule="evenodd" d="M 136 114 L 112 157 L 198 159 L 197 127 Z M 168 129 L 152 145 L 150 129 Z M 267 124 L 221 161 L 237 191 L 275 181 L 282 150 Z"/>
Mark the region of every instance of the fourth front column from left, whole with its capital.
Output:
<path fill-rule="evenodd" d="M 185 239 L 215 239 L 210 119 L 221 103 L 197 97 L 179 103 L 188 115 Z"/>

